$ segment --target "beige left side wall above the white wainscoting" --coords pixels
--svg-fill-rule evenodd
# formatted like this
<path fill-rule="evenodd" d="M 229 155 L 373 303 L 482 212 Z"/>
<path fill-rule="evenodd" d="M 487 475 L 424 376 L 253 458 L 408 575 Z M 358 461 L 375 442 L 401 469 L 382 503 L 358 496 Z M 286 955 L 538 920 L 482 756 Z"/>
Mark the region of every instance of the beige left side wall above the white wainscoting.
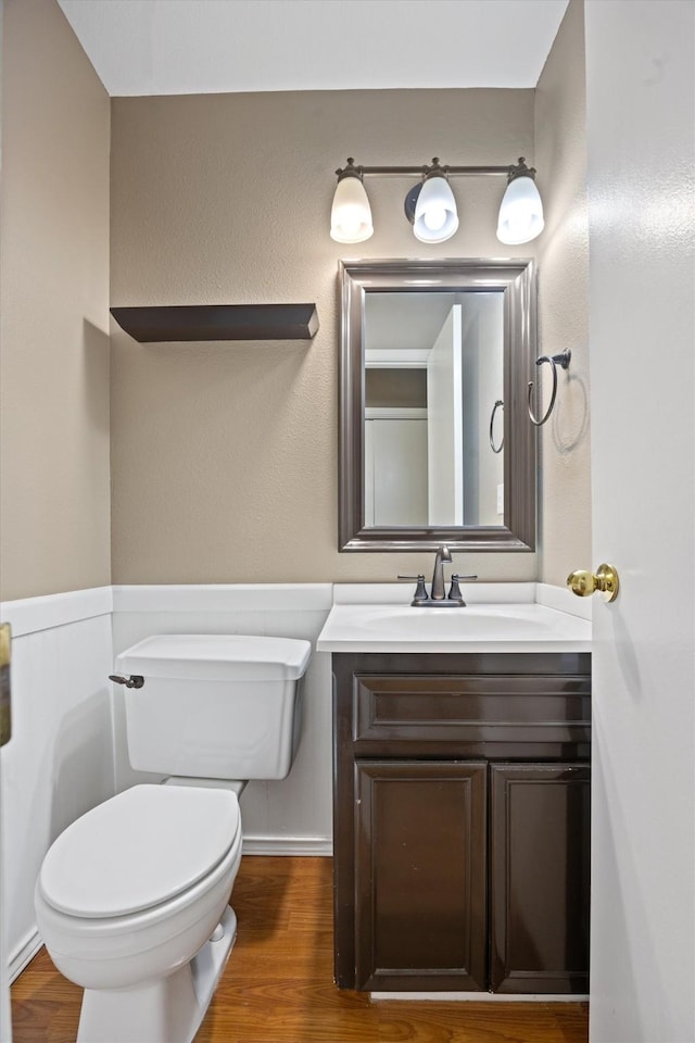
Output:
<path fill-rule="evenodd" d="M 110 102 L 54 0 L 5 0 L 4 600 L 110 582 Z"/>

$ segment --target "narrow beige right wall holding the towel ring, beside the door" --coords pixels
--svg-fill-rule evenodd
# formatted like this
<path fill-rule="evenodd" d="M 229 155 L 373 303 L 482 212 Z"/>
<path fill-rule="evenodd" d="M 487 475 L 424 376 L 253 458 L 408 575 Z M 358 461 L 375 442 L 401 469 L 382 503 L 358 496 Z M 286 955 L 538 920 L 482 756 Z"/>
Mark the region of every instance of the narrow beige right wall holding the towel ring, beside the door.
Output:
<path fill-rule="evenodd" d="M 570 0 L 535 91 L 535 165 L 546 221 L 538 252 L 541 354 L 572 352 L 539 441 L 539 578 L 563 586 L 572 569 L 597 564 L 591 548 L 583 0 Z M 547 395 L 549 367 L 543 368 Z"/>

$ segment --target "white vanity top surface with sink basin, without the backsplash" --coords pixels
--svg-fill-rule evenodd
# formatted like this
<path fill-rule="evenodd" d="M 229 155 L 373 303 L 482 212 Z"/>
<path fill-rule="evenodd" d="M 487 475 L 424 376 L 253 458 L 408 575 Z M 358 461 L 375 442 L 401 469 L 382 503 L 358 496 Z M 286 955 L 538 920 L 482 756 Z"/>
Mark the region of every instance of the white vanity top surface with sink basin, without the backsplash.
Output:
<path fill-rule="evenodd" d="M 591 649 L 591 623 L 538 604 L 464 608 L 338 604 L 317 643 L 325 652 L 572 651 Z"/>

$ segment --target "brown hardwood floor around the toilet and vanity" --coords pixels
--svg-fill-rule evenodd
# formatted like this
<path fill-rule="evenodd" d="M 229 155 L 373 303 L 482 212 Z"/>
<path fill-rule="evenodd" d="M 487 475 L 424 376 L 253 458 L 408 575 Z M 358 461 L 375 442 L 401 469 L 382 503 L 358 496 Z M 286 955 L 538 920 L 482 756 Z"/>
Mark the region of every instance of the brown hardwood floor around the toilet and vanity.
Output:
<path fill-rule="evenodd" d="M 372 1003 L 340 992 L 331 902 L 330 858 L 244 856 L 237 943 L 195 1043 L 585 1043 L 582 1003 Z M 80 998 L 42 950 L 12 988 L 14 1043 L 73 1043 Z"/>

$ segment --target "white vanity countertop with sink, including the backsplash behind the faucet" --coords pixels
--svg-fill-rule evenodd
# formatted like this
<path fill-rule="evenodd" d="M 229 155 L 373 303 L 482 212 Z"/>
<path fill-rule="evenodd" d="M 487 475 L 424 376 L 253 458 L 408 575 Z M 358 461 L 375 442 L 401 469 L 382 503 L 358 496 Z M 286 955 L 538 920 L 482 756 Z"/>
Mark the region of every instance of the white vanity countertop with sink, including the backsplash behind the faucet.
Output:
<path fill-rule="evenodd" d="M 465 607 L 413 607 L 409 587 L 337 585 L 318 652 L 590 652 L 591 606 L 536 583 L 462 586 Z M 567 595 L 567 596 L 565 596 Z M 577 601 L 574 607 L 573 599 Z"/>

